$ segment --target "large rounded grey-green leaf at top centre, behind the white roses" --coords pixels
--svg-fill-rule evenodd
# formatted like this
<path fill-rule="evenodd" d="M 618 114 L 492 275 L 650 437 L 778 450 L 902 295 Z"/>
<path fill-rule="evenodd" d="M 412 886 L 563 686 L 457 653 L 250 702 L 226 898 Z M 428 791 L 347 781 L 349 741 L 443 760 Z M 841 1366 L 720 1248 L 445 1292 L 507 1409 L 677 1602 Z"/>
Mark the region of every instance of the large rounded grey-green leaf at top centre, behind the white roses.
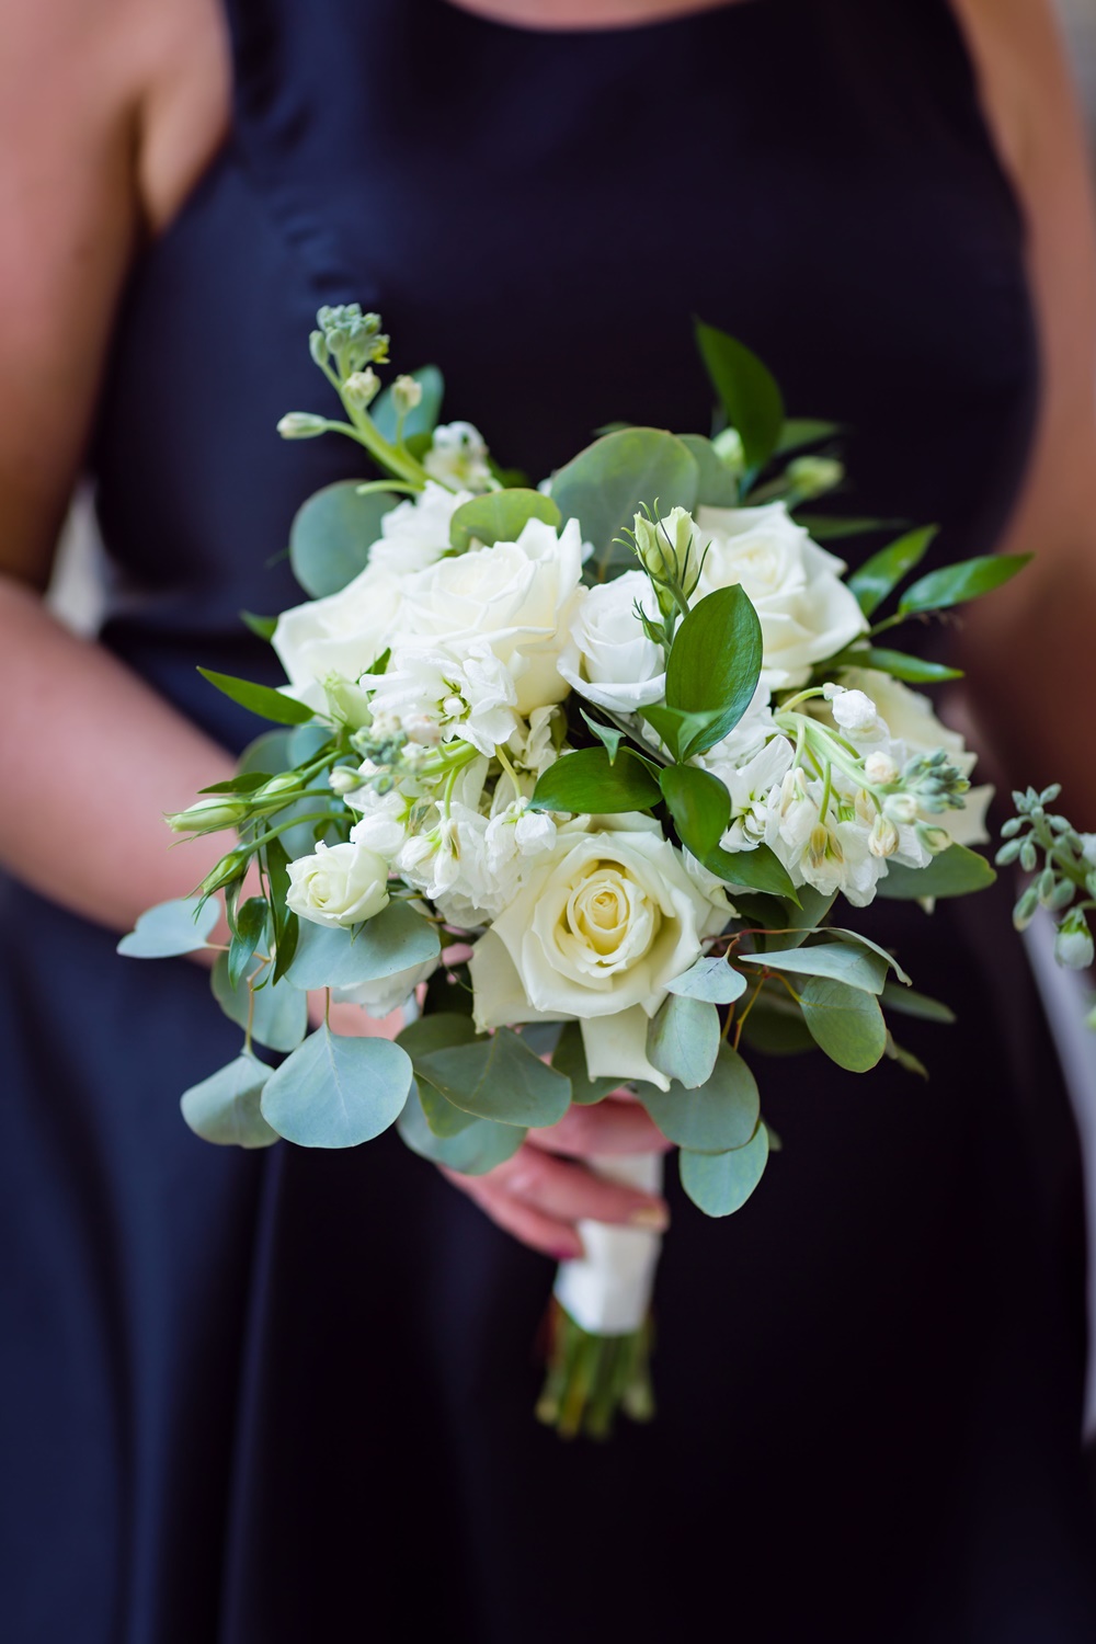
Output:
<path fill-rule="evenodd" d="M 700 470 L 680 439 L 657 427 L 626 427 L 587 446 L 552 478 L 552 501 L 578 520 L 598 557 L 631 529 L 641 503 L 664 515 L 695 508 Z M 629 556 L 631 557 L 631 556 Z"/>

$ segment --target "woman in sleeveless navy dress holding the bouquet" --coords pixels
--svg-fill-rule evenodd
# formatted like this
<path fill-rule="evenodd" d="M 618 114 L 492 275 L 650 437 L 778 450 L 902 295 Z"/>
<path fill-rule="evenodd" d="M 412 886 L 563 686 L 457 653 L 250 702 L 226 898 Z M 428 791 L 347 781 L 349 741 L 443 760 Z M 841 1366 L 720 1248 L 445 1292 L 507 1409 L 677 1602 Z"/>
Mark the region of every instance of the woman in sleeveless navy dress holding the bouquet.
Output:
<path fill-rule="evenodd" d="M 664 1217 L 580 1164 L 651 1144 L 636 1106 L 462 1184 L 495 1226 L 394 1138 L 222 1154 L 174 1101 L 235 1047 L 205 978 L 112 957 L 207 860 L 159 814 L 253 735 L 194 663 L 269 669 L 237 613 L 292 602 L 268 561 L 348 472 L 269 432 L 315 403 L 324 301 L 380 307 L 534 475 L 610 418 L 702 424 L 695 311 L 854 431 L 864 506 L 953 557 L 1012 508 L 1042 557 L 973 630 L 979 700 L 1096 807 L 1043 705 L 1091 656 L 1096 483 L 1047 0 L 49 0 L 3 30 L 10 1636 L 1091 1637 L 1075 1151 L 994 917 L 899 935 L 966 1024 L 910 1036 L 927 1092 L 766 1065 L 774 1180 L 677 1215 L 662 1414 L 606 1450 L 531 1420 L 549 1268 L 498 1230 L 564 1256 L 582 1217 Z M 36 597 L 85 452 L 97 646 Z"/>

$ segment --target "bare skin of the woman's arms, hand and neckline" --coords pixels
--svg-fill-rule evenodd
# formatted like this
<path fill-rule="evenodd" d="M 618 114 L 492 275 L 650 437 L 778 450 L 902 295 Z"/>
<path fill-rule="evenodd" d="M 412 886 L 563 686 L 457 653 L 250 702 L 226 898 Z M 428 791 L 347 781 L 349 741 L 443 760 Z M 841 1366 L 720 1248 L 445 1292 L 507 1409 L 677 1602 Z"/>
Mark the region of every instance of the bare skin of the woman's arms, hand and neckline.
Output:
<path fill-rule="evenodd" d="M 468 12 L 529 28 L 654 23 L 713 3 L 462 0 Z M 1027 212 L 1045 358 L 1037 447 L 1004 544 L 1037 546 L 1038 559 L 968 625 L 973 707 L 999 728 L 1009 764 L 1038 779 L 1043 764 L 1063 776 L 1071 814 L 1093 825 L 1096 769 L 1061 712 L 1084 684 L 1096 689 L 1096 237 L 1083 143 L 1050 0 L 956 0 L 956 12 Z M 168 850 L 159 817 L 232 774 L 233 761 L 112 656 L 61 628 L 41 592 L 130 260 L 173 220 L 223 141 L 228 99 L 215 0 L 16 0 L 5 12 L 0 860 L 113 931 L 151 903 L 189 893 L 222 855 L 225 840 Z M 1020 679 L 1014 656 L 1038 656 L 1038 679 Z M 77 850 L 67 820 L 74 792 Z M 337 1013 L 334 1026 L 361 1031 L 361 1013 Z M 573 1110 L 486 1177 L 450 1179 L 516 1238 L 567 1258 L 580 1253 L 583 1217 L 665 1225 L 661 1198 L 603 1182 L 583 1157 L 665 1146 L 642 1108 L 621 1097 Z"/>

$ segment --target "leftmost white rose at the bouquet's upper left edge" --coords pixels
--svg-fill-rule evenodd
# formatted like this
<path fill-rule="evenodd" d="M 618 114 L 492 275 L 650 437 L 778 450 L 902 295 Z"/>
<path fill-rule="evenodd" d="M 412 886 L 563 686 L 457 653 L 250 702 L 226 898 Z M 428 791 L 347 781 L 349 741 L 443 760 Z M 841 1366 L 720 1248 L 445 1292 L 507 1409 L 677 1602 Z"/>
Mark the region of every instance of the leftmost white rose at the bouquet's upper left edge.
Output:
<path fill-rule="evenodd" d="M 271 644 L 289 676 L 292 694 L 324 712 L 324 679 L 357 681 L 385 651 L 401 621 L 399 580 L 366 566 L 338 593 L 283 612 Z"/>

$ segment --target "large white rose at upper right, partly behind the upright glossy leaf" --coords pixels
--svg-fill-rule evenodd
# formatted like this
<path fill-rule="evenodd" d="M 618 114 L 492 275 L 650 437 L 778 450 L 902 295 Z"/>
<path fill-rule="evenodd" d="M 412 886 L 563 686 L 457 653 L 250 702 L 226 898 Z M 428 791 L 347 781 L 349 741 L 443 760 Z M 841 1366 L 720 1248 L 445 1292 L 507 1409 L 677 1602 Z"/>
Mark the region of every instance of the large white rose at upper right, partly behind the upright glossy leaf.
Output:
<path fill-rule="evenodd" d="M 761 677 L 771 689 L 802 686 L 813 663 L 864 633 L 864 613 L 841 582 L 845 564 L 812 543 L 784 503 L 698 508 L 697 531 L 708 546 L 693 603 L 741 584 L 761 620 Z"/>

